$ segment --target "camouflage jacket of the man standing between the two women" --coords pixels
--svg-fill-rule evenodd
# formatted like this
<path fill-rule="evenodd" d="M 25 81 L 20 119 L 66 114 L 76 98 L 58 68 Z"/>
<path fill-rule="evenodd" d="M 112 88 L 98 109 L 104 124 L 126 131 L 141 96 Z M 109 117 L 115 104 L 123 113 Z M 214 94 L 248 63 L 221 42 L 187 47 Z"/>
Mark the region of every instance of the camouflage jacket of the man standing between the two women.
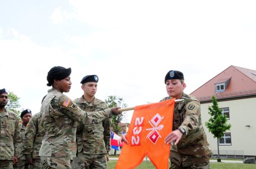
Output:
<path fill-rule="evenodd" d="M 93 118 L 90 125 L 78 125 L 77 130 L 77 150 L 84 154 L 106 154 L 110 151 L 110 123 L 111 118 L 101 120 L 94 118 L 94 111 L 102 111 L 108 105 L 100 99 L 94 98 L 92 102 L 87 102 L 81 98 L 74 102 L 88 115 Z"/>

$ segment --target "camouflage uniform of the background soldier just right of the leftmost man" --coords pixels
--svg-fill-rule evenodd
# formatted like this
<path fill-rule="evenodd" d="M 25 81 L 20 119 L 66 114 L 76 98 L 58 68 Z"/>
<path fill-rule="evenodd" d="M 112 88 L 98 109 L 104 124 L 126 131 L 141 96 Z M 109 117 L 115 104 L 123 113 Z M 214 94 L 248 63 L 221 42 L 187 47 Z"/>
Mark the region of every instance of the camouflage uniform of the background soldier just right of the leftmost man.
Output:
<path fill-rule="evenodd" d="M 14 165 L 13 168 L 19 168 L 24 169 L 28 168 L 29 166 L 26 165 L 26 158 L 24 155 L 21 154 L 22 147 L 23 147 L 23 139 L 24 139 L 24 132 L 25 132 L 26 126 L 24 126 L 22 123 L 20 124 L 20 139 L 21 143 L 18 145 L 18 163 Z"/>

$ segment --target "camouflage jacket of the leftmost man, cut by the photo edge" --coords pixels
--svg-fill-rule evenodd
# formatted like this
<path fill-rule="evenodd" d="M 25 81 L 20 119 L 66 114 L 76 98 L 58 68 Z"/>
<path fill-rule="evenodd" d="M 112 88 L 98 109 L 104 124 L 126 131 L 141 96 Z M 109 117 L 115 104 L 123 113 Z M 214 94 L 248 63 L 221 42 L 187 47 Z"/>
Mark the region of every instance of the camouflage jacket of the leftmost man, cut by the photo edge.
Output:
<path fill-rule="evenodd" d="M 18 157 L 20 125 L 17 115 L 5 109 L 0 113 L 0 160 L 13 160 Z"/>

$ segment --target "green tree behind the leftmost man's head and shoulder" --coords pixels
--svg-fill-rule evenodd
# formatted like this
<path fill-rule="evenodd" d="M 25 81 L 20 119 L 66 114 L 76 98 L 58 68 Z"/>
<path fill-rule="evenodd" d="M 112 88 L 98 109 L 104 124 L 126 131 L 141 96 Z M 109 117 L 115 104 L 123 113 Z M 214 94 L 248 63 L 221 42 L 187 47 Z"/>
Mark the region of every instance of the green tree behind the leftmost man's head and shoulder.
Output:
<path fill-rule="evenodd" d="M 6 108 L 14 113 L 17 114 L 18 117 L 20 117 L 20 111 L 18 111 L 18 108 L 20 108 L 20 103 L 18 102 L 20 98 L 18 98 L 17 95 L 15 95 L 13 92 L 8 93 L 8 103 Z"/>

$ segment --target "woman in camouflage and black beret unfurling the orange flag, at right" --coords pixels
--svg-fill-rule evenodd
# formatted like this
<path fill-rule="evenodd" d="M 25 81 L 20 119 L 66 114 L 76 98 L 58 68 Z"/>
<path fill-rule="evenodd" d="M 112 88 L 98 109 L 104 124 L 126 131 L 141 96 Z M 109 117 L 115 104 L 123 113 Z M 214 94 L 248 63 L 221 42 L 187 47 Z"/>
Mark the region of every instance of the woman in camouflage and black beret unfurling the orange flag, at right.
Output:
<path fill-rule="evenodd" d="M 165 76 L 168 99 L 184 99 L 175 103 L 172 132 L 165 138 L 171 144 L 171 169 L 210 168 L 211 149 L 201 123 L 200 102 L 183 92 L 186 87 L 181 71 L 170 70 Z"/>

